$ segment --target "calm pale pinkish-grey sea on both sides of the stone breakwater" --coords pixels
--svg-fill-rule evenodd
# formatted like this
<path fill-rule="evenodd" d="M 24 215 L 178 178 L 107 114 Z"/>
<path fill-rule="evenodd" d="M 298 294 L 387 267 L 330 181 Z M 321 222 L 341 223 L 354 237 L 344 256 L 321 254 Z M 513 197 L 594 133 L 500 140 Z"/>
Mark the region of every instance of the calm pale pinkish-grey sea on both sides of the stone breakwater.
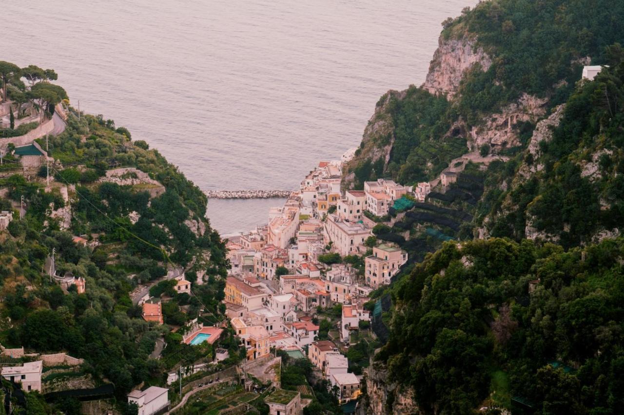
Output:
<path fill-rule="evenodd" d="M 22 0 L 0 60 L 56 69 L 74 106 L 127 126 L 202 189 L 293 189 L 357 146 L 378 98 L 424 81 L 475 0 Z M 223 233 L 280 201 L 211 201 Z"/>

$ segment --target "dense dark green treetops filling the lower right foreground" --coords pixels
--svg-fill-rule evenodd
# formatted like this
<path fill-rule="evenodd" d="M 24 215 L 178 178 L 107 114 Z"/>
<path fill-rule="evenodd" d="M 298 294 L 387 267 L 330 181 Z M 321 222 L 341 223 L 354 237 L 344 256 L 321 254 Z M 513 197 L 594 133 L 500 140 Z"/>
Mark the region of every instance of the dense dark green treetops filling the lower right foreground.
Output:
<path fill-rule="evenodd" d="M 447 243 L 392 290 L 391 334 L 376 358 L 425 410 L 468 413 L 495 390 L 490 399 L 508 409 L 514 396 L 544 413 L 615 413 L 623 249 L 605 241 L 583 260 L 580 249 L 530 241 Z"/>

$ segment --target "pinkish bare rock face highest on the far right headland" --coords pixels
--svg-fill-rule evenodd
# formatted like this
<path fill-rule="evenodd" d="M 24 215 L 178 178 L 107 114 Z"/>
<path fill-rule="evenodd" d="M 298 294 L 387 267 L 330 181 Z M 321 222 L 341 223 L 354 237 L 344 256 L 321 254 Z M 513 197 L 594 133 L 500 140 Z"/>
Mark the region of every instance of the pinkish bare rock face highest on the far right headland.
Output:
<path fill-rule="evenodd" d="M 492 59 L 481 47 L 476 47 L 475 39 L 444 39 L 438 42 L 438 48 L 429 64 L 429 73 L 422 87 L 430 93 L 442 93 L 451 99 L 459 88 L 459 82 L 467 70 L 480 65 L 488 70 Z"/>

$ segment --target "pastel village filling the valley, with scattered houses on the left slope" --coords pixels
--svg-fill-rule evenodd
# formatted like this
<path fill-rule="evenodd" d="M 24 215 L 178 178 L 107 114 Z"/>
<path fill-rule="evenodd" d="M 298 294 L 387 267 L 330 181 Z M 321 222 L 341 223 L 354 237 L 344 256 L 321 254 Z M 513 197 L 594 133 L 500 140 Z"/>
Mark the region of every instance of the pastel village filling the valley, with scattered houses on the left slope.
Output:
<path fill-rule="evenodd" d="M 583 77 L 593 79 L 600 69 L 586 67 Z M 23 199 L 18 201 L 15 194 L 9 194 L 12 184 L 6 180 L 17 175 L 38 183 L 42 194 L 54 194 L 61 199 L 60 207 L 56 206 L 56 201 L 49 203 L 49 209 L 46 209 L 49 215 L 46 214 L 42 223 L 44 227 L 73 232 L 71 246 L 89 254 L 104 245 L 110 246 L 110 239 L 107 241 L 104 232 L 76 232 L 79 226 L 76 212 L 72 211 L 72 198 L 81 195 L 77 196 L 76 183 L 69 183 L 62 174 L 69 170 L 69 163 L 63 166 L 59 158 L 49 154 L 47 146 L 45 150 L 43 146 L 44 140 L 61 135 L 71 122 L 76 122 L 80 112 L 69 107 L 66 95 L 60 91 L 54 100 L 39 105 L 5 101 L 0 105 L 4 134 L 0 141 L 0 166 L 3 166 L 0 173 L 5 180 L 0 188 L 0 198 L 6 198 L 9 206 L 2 205 L 6 210 L 0 211 L 0 232 L 9 234 L 11 227 L 21 223 L 34 204 Z M 90 122 L 108 123 L 95 118 Z M 20 130 L 21 125 L 27 125 L 27 128 Z M 114 129 L 114 123 L 112 127 L 102 126 L 102 129 L 119 133 L 119 129 Z M 22 134 L 17 135 L 18 132 Z M 81 143 L 87 142 L 86 136 L 80 137 Z M 129 148 L 143 148 L 143 144 L 130 143 L 129 136 L 119 140 L 119 153 Z M 271 393 L 260 396 L 271 411 L 301 413 L 311 403 L 311 398 L 303 398 L 303 395 L 311 396 L 309 390 L 305 386 L 298 392 L 283 390 L 275 376 L 267 375 L 275 365 L 283 370 L 278 355 L 293 361 L 308 359 L 313 365 L 313 377 L 326 384 L 328 392 L 339 403 L 353 403 L 358 399 L 365 384 L 363 369 L 369 365 L 374 349 L 381 345 L 372 328 L 381 324 L 386 309 L 374 292 L 391 284 L 406 265 L 416 261 L 404 249 L 411 230 L 406 227 L 404 236 L 395 238 L 389 229 L 399 229 L 408 223 L 411 226 L 414 222 L 420 226 L 437 224 L 436 229 L 427 227 L 426 232 L 443 241 L 452 239 L 441 232 L 451 233 L 459 229 L 459 224 L 449 218 L 466 220 L 472 216 L 447 209 L 456 206 L 445 202 L 457 195 L 463 198 L 462 201 L 469 201 L 479 193 L 482 181 L 475 174 L 484 171 L 491 163 L 509 158 L 472 152 L 452 160 L 431 181 L 414 186 L 378 179 L 364 181 L 361 190 L 344 189 L 341 180 L 343 166 L 356 152 L 348 151 L 339 161 L 319 163 L 283 206 L 270 209 L 266 226 L 230 237 L 225 244 L 227 272 L 211 270 L 206 266 L 207 261 L 202 262 L 205 257 L 195 255 L 181 261 L 183 265 L 158 262 L 152 267 L 159 268 L 158 274 L 149 278 L 142 272 L 123 275 L 124 280 L 132 282 L 124 286 L 132 287 L 132 291 L 124 293 L 124 300 L 129 303 L 124 307 L 130 310 L 129 313 L 139 310 L 134 316 L 136 320 L 142 320 L 154 334 L 158 330 L 158 337 L 150 349 L 150 360 L 160 361 L 162 365 L 158 370 L 164 372 L 158 372 L 158 376 L 163 375 L 162 379 L 150 379 L 154 383 L 150 386 L 144 381 L 132 383 L 136 388 L 125 397 L 128 403 L 135 404 L 139 413 L 168 410 L 172 401 L 177 403 L 173 409 L 183 408 L 184 399 L 196 389 L 204 388 L 203 382 L 208 383 L 208 378 L 211 383 L 227 383 L 228 387 L 236 385 L 236 393 L 240 394 L 257 394 L 256 389 L 263 385 L 263 381 L 268 381 L 271 384 L 268 392 Z M 81 170 L 77 171 L 83 176 L 89 171 L 80 163 L 75 165 L 79 166 Z M 56 173 L 50 174 L 51 169 Z M 130 163 L 111 160 L 96 178 L 81 178 L 79 181 L 89 183 L 93 188 L 106 183 L 144 191 L 146 200 L 143 202 L 148 205 L 167 196 L 162 179 L 159 181 L 154 177 L 155 174 Z M 108 203 L 106 201 L 104 206 L 109 207 Z M 142 209 L 127 210 L 124 226 L 142 224 L 141 217 L 145 214 Z M 193 212 L 187 212 L 182 220 L 184 226 L 198 239 L 206 237 L 207 224 L 193 215 Z M 166 226 L 158 224 L 158 228 L 162 230 Z M 123 234 L 119 237 L 120 242 L 126 242 L 124 237 Z M 173 239 L 170 235 L 166 237 Z M 477 237 L 483 238 L 484 235 Z M 168 253 L 172 254 L 173 249 Z M 106 265 L 120 264 L 119 252 L 110 251 L 106 255 Z M 44 277 L 42 284 L 59 289 L 61 296 L 87 298 L 93 290 L 100 288 L 94 284 L 92 275 L 85 277 L 68 265 L 68 261 L 62 260 L 59 264 L 56 249 L 44 257 L 39 279 Z M 29 282 L 24 285 L 26 291 L 37 289 Z M 217 295 L 211 292 L 212 297 L 202 295 L 203 290 L 213 290 L 214 287 L 222 287 L 222 292 Z M 203 303 L 205 298 L 214 300 L 213 304 Z M 26 350 L 24 345 L 0 346 L 2 357 L 6 359 L 0 375 L 19 384 L 25 392 L 95 391 L 104 387 L 108 389 L 102 394 L 112 396 L 112 383 L 102 386 L 84 373 L 84 359 L 61 350 L 59 353 L 38 353 L 26 346 Z M 186 354 L 185 358 L 192 356 L 189 358 L 192 361 L 183 361 L 180 350 Z M 198 353 L 204 355 L 196 356 L 192 353 L 194 350 L 201 350 Z M 193 359 L 195 357 L 198 358 Z M 251 380 L 253 368 L 258 367 L 264 371 L 258 375 L 261 379 Z M 275 368 L 271 370 L 279 373 Z M 80 387 L 72 383 L 61 385 L 54 383 L 59 374 L 66 378 L 82 376 L 85 379 Z M 176 383 L 180 386 L 180 396 L 173 393 Z M 247 410 L 248 405 L 242 400 L 236 401 L 233 409 Z"/>

